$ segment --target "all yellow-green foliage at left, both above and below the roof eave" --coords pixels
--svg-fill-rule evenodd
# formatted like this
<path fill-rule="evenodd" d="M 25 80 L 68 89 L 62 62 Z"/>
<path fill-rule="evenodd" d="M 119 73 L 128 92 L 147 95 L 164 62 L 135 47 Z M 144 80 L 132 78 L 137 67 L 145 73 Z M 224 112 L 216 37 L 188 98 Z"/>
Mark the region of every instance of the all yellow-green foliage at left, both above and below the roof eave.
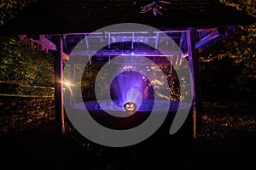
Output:
<path fill-rule="evenodd" d="M 35 1 L 37 0 L 1 0 L 0 26 L 15 18 L 22 8 Z M 9 89 L 6 91 L 2 89 L 2 94 L 38 94 L 42 90 L 32 87 L 53 86 L 52 56 L 36 48 L 22 45 L 17 37 L 0 37 L 0 49 L 0 82 L 3 87 Z M 45 93 L 43 92 L 42 95 Z"/>

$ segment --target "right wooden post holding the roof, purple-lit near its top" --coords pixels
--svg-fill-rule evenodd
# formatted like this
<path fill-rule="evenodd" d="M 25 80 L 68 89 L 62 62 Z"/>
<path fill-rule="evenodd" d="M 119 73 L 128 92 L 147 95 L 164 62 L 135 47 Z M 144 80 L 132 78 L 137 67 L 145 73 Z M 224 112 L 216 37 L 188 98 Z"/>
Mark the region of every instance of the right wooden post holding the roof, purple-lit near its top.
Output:
<path fill-rule="evenodd" d="M 192 111 L 193 111 L 193 137 L 196 139 L 197 131 L 201 128 L 201 76 L 199 58 L 195 49 L 197 42 L 196 29 L 189 28 L 187 32 L 188 52 L 189 52 L 189 66 L 192 73 Z"/>

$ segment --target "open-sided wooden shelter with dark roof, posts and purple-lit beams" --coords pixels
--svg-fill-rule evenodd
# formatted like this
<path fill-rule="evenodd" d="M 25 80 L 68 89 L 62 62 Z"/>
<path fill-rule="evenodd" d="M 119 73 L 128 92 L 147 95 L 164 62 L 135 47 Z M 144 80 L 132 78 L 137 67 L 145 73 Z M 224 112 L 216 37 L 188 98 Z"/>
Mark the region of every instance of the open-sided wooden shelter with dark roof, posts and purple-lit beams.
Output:
<path fill-rule="evenodd" d="M 153 26 L 166 32 L 172 39 L 177 39 L 183 55 L 180 60 L 188 59 L 193 76 L 193 122 L 196 138 L 196 127 L 201 122 L 201 80 L 198 52 L 212 46 L 214 43 L 229 37 L 236 31 L 238 25 L 249 25 L 255 18 L 236 8 L 218 3 L 218 0 L 170 0 L 165 4 L 166 10 L 162 14 L 154 14 L 152 10 L 140 13 L 151 1 L 146 0 L 119 0 L 119 1 L 93 1 L 93 0 L 38 0 L 25 8 L 14 20 L 1 28 L 5 34 L 19 35 L 20 41 L 36 46 L 45 52 L 55 55 L 55 120 L 59 132 L 65 133 L 65 116 L 63 108 L 63 63 L 69 56 L 67 46 L 69 42 L 84 39 L 84 52 L 77 54 L 88 57 L 95 54 L 90 50 L 90 41 L 87 35 L 104 26 L 119 23 L 138 23 Z M 144 32 L 148 32 L 143 30 Z M 104 31 L 95 32 L 96 39 L 104 41 L 107 38 L 108 48 L 104 53 L 96 56 L 99 60 L 111 59 L 113 55 L 131 54 L 134 43 L 143 37 L 143 31 Z M 126 35 L 122 37 L 122 35 Z M 152 32 L 149 41 L 157 48 L 161 42 L 159 32 Z M 118 38 L 128 38 L 130 47 L 125 50 L 108 50 L 111 43 Z M 124 40 L 125 41 L 125 40 Z M 79 53 L 79 52 L 78 52 Z M 154 56 L 155 62 L 160 62 L 162 56 L 154 50 L 147 51 Z M 140 55 L 140 54 L 137 54 Z M 143 55 L 143 54 L 141 54 Z M 96 61 L 91 61 L 96 62 Z"/>

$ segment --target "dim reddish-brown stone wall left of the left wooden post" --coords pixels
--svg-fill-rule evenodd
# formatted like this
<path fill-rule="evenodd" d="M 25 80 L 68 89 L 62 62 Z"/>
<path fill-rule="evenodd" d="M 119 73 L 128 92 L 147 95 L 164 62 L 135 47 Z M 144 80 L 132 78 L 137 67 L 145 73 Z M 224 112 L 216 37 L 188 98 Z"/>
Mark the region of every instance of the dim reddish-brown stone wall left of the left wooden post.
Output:
<path fill-rule="evenodd" d="M 54 97 L 0 96 L 0 131 L 15 133 L 54 122 Z"/>

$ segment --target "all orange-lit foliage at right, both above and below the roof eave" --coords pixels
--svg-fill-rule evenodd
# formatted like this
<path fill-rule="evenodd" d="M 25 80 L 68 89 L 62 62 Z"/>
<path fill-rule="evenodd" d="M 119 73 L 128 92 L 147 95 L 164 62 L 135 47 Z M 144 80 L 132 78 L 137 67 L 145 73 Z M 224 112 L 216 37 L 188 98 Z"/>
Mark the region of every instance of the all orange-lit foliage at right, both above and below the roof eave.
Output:
<path fill-rule="evenodd" d="M 238 10 L 246 10 L 247 14 L 256 16 L 256 2 L 251 0 L 219 0 L 228 6 Z M 231 87 L 241 91 L 252 92 L 256 85 L 256 24 L 250 26 L 237 26 L 236 33 L 217 44 L 211 52 L 201 53 L 202 65 L 218 67 L 216 59 L 230 58 L 236 67 L 237 75 L 233 79 Z M 220 61 L 219 61 L 220 62 Z"/>

